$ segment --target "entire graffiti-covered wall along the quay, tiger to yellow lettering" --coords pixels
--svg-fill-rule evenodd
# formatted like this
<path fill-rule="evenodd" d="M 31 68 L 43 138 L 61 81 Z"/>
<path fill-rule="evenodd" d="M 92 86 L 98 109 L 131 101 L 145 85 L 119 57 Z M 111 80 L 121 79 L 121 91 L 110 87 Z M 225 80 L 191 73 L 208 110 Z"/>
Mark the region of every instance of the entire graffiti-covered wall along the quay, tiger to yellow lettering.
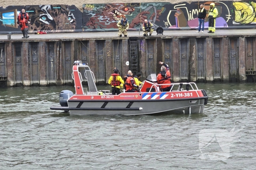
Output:
<path fill-rule="evenodd" d="M 94 32 L 117 31 L 117 22 L 126 17 L 130 30 L 139 30 L 145 19 L 165 30 L 197 29 L 198 9 L 201 4 L 207 11 L 212 1 L 172 4 L 115 3 L 83 4 L 80 11 L 74 5 L 25 5 L 0 7 L 0 33 L 20 33 L 17 15 L 24 8 L 31 18 L 29 31 Z M 253 1 L 214 1 L 218 9 L 216 28 L 252 27 L 256 24 L 256 3 Z"/>

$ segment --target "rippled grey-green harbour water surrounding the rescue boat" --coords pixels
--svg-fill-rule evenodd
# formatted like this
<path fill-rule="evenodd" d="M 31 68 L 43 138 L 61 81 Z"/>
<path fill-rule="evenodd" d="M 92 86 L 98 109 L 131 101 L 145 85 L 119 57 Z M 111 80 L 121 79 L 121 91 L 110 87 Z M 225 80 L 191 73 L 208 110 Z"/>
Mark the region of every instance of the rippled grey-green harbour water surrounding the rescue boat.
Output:
<path fill-rule="evenodd" d="M 204 114 L 160 116 L 69 116 L 49 107 L 73 87 L 0 89 L 0 168 L 254 169 L 255 84 L 199 87 L 209 96 Z M 201 159 L 202 130 L 233 128 L 242 130 L 228 159 Z M 220 151 L 218 142 L 203 151 Z"/>

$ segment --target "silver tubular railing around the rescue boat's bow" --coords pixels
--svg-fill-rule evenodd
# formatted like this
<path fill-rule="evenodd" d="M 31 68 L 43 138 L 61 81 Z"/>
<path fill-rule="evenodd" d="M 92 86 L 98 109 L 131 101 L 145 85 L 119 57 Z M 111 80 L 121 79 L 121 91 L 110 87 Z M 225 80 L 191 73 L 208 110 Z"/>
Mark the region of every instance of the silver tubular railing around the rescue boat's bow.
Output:
<path fill-rule="evenodd" d="M 183 91 L 184 89 L 182 88 L 183 85 L 185 85 L 185 90 L 189 91 L 189 88 L 191 88 L 191 90 L 198 90 L 197 86 L 196 86 L 196 83 L 193 83 L 193 82 L 189 82 L 189 83 L 170 83 L 170 84 L 153 84 L 150 88 L 149 91 L 152 90 L 152 88 L 155 88 L 155 92 L 160 92 L 159 90 L 159 86 L 161 85 L 172 85 L 170 91 Z M 178 87 L 177 87 L 178 86 Z M 194 87 L 195 88 L 194 88 Z M 177 87 L 177 90 L 174 90 L 174 87 Z"/>

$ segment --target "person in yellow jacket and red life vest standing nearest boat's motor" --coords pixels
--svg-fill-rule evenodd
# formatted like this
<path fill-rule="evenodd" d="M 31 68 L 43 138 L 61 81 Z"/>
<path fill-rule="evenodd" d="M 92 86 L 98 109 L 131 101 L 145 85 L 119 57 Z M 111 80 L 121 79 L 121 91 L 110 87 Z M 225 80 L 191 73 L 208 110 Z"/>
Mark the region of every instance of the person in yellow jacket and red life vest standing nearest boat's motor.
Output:
<path fill-rule="evenodd" d="M 118 74 L 118 70 L 114 68 L 114 74 L 112 74 L 109 78 L 109 84 L 112 87 L 112 95 L 118 95 L 121 93 L 120 91 L 120 84 L 124 84 L 124 80 Z"/>

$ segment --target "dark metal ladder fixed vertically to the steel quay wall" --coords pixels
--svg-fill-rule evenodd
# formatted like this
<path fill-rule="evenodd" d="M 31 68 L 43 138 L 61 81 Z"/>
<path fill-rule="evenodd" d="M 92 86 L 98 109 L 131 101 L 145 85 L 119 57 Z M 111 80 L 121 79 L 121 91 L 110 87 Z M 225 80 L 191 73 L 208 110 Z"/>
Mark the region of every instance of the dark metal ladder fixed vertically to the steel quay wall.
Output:
<path fill-rule="evenodd" d="M 130 70 L 137 75 L 139 69 L 138 39 L 130 39 Z"/>

